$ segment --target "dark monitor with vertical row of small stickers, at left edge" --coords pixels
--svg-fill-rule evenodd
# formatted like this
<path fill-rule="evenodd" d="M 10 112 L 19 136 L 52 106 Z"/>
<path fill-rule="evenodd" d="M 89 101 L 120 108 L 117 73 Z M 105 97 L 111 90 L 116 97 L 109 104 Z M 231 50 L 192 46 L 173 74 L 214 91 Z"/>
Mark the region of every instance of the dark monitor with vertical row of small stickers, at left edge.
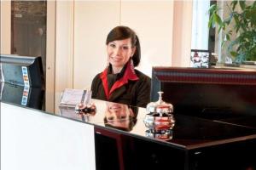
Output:
<path fill-rule="evenodd" d="M 44 71 L 41 57 L 1 54 L 1 82 L 43 88 Z"/>

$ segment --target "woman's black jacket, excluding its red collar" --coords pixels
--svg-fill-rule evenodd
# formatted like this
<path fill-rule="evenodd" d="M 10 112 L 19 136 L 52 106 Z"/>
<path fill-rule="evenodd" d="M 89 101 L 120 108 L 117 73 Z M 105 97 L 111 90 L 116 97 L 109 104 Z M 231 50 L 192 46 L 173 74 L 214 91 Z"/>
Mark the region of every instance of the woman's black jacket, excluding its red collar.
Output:
<path fill-rule="evenodd" d="M 125 85 L 115 89 L 113 94 L 109 96 L 109 99 L 107 99 L 103 88 L 102 79 L 100 77 L 101 73 L 97 74 L 91 84 L 92 98 L 113 101 L 125 105 L 146 107 L 150 102 L 151 79 L 141 71 L 135 70 L 135 73 L 139 79 L 137 81 L 129 80 Z"/>

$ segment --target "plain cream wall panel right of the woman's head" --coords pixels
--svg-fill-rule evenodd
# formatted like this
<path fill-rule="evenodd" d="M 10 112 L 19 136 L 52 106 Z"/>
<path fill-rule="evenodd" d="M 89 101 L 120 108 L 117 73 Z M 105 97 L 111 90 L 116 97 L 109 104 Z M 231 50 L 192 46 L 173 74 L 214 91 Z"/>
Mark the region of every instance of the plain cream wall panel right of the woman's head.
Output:
<path fill-rule="evenodd" d="M 142 60 L 138 70 L 151 77 L 152 66 L 172 65 L 172 1 L 122 3 L 121 24 L 137 31 Z"/>

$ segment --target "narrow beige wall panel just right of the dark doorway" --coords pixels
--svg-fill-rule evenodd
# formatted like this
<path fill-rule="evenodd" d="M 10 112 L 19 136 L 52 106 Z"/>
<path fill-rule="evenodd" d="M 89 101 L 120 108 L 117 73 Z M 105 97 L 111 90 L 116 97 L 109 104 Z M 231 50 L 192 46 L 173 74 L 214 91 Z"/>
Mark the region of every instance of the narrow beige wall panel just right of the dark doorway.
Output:
<path fill-rule="evenodd" d="M 73 88 L 73 2 L 56 1 L 55 111 L 65 88 Z"/>

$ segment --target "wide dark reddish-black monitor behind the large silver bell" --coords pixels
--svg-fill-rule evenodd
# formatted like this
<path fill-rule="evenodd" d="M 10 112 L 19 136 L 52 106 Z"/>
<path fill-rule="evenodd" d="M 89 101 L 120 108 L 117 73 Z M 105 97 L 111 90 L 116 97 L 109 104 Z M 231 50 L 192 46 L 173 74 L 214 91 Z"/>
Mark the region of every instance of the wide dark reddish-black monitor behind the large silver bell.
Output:
<path fill-rule="evenodd" d="M 256 70 L 154 67 L 151 100 L 172 103 L 174 113 L 203 117 L 256 116 Z"/>

